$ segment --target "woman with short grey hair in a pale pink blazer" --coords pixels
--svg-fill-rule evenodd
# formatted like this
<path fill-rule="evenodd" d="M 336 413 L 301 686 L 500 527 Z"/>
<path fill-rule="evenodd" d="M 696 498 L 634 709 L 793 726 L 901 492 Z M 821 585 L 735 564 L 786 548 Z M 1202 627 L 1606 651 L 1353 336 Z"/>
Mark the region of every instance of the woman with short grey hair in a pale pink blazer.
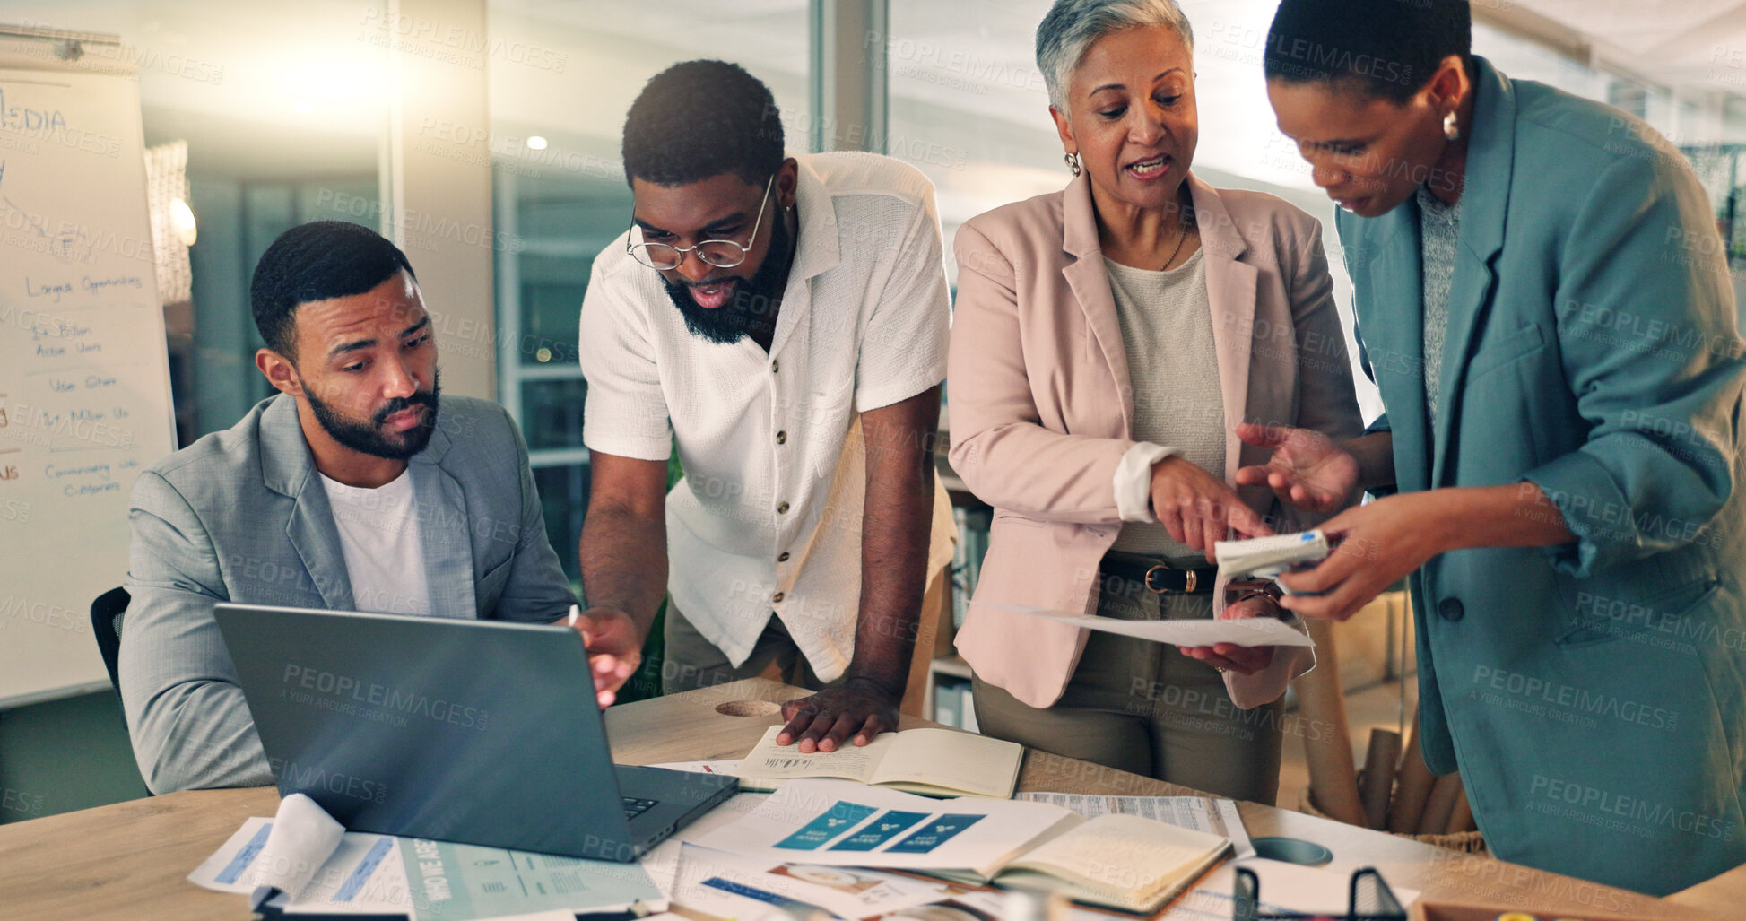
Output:
<path fill-rule="evenodd" d="M 959 231 L 952 465 L 995 507 L 959 650 L 983 732 L 1271 802 L 1303 648 L 1177 650 L 1016 608 L 1280 617 L 1215 540 L 1310 524 L 1269 489 L 1266 426 L 1357 435 L 1320 225 L 1213 189 L 1194 159 L 1193 31 L 1172 0 L 1058 0 L 1037 66 L 1074 173 Z M 1327 496 L 1323 496 L 1327 498 Z M 1348 496 L 1332 496 L 1341 505 Z"/>

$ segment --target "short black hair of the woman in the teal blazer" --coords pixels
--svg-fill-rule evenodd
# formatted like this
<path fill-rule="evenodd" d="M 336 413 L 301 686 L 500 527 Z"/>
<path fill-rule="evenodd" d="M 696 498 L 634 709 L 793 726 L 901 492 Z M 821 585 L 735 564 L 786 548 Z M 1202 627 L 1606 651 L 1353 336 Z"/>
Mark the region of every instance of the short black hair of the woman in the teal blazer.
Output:
<path fill-rule="evenodd" d="M 1262 68 L 1269 80 L 1350 84 L 1399 105 L 1451 54 L 1472 72 L 1467 0 L 1282 0 Z"/>

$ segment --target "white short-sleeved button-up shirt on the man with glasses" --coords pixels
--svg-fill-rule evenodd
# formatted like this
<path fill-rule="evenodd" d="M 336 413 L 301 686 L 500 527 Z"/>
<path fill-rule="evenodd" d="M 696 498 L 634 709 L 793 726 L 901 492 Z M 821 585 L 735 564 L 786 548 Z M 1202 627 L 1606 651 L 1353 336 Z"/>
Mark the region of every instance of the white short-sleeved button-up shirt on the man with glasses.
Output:
<path fill-rule="evenodd" d="M 859 414 L 945 379 L 950 302 L 920 171 L 873 154 L 796 159 L 800 243 L 768 353 L 686 330 L 658 273 L 625 252 L 629 231 L 595 257 L 578 350 L 583 442 L 641 460 L 667 460 L 677 444 L 674 605 L 735 666 L 775 612 L 831 682 L 854 655 L 859 617 Z M 929 573 L 950 561 L 953 533 L 936 486 Z"/>

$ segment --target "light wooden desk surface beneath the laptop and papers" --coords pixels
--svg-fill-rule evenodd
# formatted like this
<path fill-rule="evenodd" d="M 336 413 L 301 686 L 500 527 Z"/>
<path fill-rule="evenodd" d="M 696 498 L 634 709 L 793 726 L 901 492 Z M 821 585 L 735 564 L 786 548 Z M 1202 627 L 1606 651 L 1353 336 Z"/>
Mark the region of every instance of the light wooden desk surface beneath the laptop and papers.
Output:
<path fill-rule="evenodd" d="M 606 713 L 616 760 L 655 764 L 739 758 L 779 722 L 779 704 L 803 694 L 754 678 L 613 708 Z M 904 717 L 904 727 L 929 725 Z M 1095 764 L 1030 751 L 1020 790 L 1110 795 L 1180 795 L 1193 790 Z M 248 918 L 236 895 L 183 877 L 250 816 L 279 806 L 271 786 L 192 790 L 0 825 L 0 916 L 19 919 L 129 918 L 182 921 Z M 1680 902 L 1610 890 L 1301 813 L 1241 804 L 1250 835 L 1325 844 L 1341 862 L 1369 863 L 1425 898 L 1512 905 L 1578 918 L 1718 918 L 1746 905 L 1746 874 L 1725 874 Z M 1709 888 L 1715 886 L 1715 888 Z M 1720 912 L 1720 914 L 1716 914 Z"/>

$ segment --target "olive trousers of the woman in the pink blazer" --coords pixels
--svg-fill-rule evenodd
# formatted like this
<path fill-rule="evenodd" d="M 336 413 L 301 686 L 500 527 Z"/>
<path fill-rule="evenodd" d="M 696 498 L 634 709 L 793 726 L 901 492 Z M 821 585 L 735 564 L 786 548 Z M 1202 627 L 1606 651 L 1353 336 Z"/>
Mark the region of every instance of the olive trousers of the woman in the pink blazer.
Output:
<path fill-rule="evenodd" d="M 1103 587 L 1103 617 L 1212 617 L 1212 596 L 1159 606 L 1133 582 L 1105 577 Z M 1278 797 L 1283 699 L 1238 710 L 1212 666 L 1170 645 L 1093 631 L 1055 706 L 1027 706 L 981 678 L 971 699 L 988 736 L 1220 797 Z"/>

